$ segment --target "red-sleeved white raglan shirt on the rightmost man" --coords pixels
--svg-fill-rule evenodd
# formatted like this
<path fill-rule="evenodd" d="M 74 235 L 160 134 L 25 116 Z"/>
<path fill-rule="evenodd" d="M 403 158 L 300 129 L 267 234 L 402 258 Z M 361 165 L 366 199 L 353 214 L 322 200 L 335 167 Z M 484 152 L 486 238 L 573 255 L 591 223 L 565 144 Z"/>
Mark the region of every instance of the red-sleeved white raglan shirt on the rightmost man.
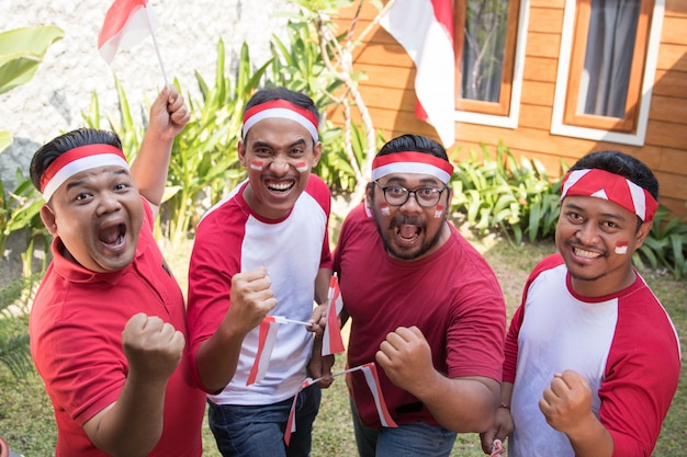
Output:
<path fill-rule="evenodd" d="M 617 294 L 589 298 L 572 289 L 560 254 L 532 271 L 506 339 L 504 380 L 514 382 L 509 456 L 575 455 L 539 410 L 553 375 L 566 369 L 588 379 L 613 456 L 651 455 L 677 389 L 680 349 L 669 317 L 639 274 Z"/>

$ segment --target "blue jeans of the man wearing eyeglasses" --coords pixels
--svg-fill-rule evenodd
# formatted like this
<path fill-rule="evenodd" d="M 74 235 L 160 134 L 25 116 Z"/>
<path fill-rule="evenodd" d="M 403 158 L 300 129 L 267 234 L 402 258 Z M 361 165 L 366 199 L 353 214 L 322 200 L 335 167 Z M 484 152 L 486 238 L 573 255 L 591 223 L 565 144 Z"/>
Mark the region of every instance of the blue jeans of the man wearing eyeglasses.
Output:
<path fill-rule="evenodd" d="M 448 457 L 455 433 L 426 422 L 374 430 L 360 422 L 351 400 L 356 445 L 360 457 Z"/>

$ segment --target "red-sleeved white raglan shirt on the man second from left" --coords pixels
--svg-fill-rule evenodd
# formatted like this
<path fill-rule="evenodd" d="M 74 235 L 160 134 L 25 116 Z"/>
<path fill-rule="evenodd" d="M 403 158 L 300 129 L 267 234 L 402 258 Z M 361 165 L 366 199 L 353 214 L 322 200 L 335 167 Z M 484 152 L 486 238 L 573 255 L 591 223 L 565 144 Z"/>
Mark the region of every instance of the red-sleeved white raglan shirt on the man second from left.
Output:
<path fill-rule="evenodd" d="M 198 226 L 189 266 L 193 361 L 230 306 L 234 274 L 267 267 L 277 298 L 270 315 L 307 321 L 313 313 L 315 277 L 320 269 L 331 267 L 327 233 L 331 196 L 320 178 L 311 174 L 291 213 L 279 220 L 264 219 L 250 208 L 243 197 L 246 185 L 211 208 Z M 246 386 L 258 335 L 258 328 L 246 335 L 236 375 L 221 393 L 209 396 L 213 402 L 271 404 L 296 393 L 307 376 L 312 333 L 303 325 L 281 324 L 264 379 Z M 196 382 L 202 386 L 200 379 Z"/>

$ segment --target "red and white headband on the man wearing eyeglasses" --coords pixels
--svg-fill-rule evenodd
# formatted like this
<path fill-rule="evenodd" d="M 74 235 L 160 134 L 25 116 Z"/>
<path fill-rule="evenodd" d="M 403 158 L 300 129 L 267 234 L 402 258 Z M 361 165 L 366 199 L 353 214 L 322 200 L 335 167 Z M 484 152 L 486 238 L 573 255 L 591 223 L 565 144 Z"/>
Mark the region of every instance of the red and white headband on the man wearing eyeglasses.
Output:
<path fill-rule="evenodd" d="M 430 174 L 444 184 L 453 174 L 453 165 L 439 157 L 417 151 L 378 156 L 372 161 L 372 181 L 391 173 Z"/>

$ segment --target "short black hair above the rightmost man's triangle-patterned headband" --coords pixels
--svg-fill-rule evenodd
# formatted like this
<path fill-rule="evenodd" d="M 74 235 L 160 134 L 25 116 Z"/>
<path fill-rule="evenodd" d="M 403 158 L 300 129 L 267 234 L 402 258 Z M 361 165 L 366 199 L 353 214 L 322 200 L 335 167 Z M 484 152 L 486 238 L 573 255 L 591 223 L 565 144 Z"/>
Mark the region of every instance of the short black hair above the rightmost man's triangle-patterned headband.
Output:
<path fill-rule="evenodd" d="M 607 150 L 595 151 L 584 156 L 568 171 L 599 169 L 618 174 L 644 188 L 658 199 L 658 181 L 649 167 L 641 160 L 627 153 Z"/>

